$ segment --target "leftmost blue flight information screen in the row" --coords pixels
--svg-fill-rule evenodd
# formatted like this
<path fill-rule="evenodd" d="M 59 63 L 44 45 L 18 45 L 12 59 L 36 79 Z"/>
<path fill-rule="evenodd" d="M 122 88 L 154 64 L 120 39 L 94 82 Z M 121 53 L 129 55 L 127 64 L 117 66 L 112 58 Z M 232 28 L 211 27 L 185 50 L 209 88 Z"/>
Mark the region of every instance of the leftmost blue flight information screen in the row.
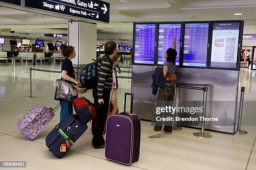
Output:
<path fill-rule="evenodd" d="M 154 65 L 156 24 L 136 24 L 134 63 Z"/>

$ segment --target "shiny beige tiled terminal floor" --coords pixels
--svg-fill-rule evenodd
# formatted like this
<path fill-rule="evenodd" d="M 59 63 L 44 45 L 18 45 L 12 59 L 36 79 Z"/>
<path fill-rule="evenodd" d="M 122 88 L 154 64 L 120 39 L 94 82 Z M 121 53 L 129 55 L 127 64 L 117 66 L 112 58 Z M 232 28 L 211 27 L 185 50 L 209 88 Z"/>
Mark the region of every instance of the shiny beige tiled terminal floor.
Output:
<path fill-rule="evenodd" d="M 59 68 L 59 66 L 57 65 Z M 50 70 L 50 66 L 43 69 Z M 29 74 L 17 66 L 10 72 L 10 66 L 0 66 L 0 161 L 27 161 L 27 170 L 74 169 L 74 170 L 255 170 L 256 169 L 256 126 L 242 129 L 247 135 L 226 135 L 212 133 L 209 139 L 192 135 L 198 130 L 183 128 L 172 135 L 161 134 L 148 138 L 152 127 L 150 122 L 141 122 L 141 155 L 131 166 L 121 165 L 105 159 L 104 150 L 92 148 L 92 134 L 87 130 L 62 159 L 51 154 L 45 145 L 45 137 L 59 122 L 59 110 L 53 120 L 33 141 L 26 140 L 16 127 L 18 119 L 31 107 L 43 103 L 48 107 L 57 105 L 53 100 L 55 79 L 59 73 L 33 72 L 32 94 L 36 98 L 26 99 L 29 93 Z M 126 73 L 125 76 L 128 74 Z M 130 75 L 131 76 L 131 75 Z M 123 94 L 130 92 L 131 83 L 119 80 L 118 105 L 123 110 Z M 245 100 L 256 97 L 256 72 L 241 72 L 241 86 L 246 87 Z M 91 90 L 84 94 L 92 100 Z M 129 103 L 129 102 L 128 102 Z M 247 108 L 249 109 L 249 108 Z M 255 115 L 251 118 L 255 119 Z M 254 147 L 253 147 L 254 145 Z M 11 169 L 11 168 L 10 168 Z M 22 168 L 21 168 L 22 169 Z M 24 168 L 25 169 L 25 168 Z"/>

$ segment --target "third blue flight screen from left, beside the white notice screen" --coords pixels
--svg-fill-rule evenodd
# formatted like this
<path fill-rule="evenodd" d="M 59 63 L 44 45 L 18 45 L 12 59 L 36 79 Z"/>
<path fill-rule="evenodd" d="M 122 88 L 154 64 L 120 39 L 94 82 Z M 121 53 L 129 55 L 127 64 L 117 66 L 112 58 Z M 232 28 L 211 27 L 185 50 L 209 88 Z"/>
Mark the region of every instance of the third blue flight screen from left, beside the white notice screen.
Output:
<path fill-rule="evenodd" d="M 209 23 L 185 23 L 183 65 L 206 67 Z"/>

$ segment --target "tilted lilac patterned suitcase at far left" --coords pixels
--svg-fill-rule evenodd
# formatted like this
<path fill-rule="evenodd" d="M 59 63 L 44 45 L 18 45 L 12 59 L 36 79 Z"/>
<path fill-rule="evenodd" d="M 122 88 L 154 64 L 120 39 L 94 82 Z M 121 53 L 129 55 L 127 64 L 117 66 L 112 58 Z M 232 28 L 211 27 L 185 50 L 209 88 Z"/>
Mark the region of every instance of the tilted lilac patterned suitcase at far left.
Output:
<path fill-rule="evenodd" d="M 20 130 L 20 133 L 28 137 L 30 140 L 33 140 L 51 121 L 54 117 L 54 112 L 59 107 L 59 104 L 54 109 L 48 108 L 42 104 L 32 107 L 17 122 L 17 127 Z"/>

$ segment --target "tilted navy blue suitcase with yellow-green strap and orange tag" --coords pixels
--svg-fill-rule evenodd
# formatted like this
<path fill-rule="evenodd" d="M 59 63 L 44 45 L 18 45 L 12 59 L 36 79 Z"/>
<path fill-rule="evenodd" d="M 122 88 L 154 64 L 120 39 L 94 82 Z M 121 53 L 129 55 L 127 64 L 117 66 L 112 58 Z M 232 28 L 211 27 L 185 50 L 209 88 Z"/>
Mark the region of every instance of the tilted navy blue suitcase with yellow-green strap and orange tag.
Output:
<path fill-rule="evenodd" d="M 83 124 L 77 115 L 70 114 L 47 135 L 46 147 L 56 157 L 62 158 L 87 128 L 87 125 Z"/>

